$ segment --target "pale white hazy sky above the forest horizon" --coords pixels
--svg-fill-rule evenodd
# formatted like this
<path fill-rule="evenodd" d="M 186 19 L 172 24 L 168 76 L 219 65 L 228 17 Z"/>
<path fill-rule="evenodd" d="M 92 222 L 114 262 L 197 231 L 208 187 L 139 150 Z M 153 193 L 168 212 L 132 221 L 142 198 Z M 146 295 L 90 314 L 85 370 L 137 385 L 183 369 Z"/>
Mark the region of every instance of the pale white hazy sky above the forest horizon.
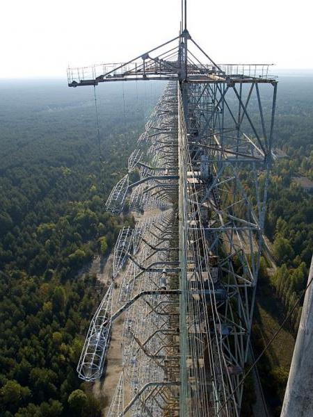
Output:
<path fill-rule="evenodd" d="M 313 68 L 312 0 L 188 0 L 188 30 L 217 63 Z M 2 0 L 0 77 L 65 76 L 178 34 L 180 0 Z"/>

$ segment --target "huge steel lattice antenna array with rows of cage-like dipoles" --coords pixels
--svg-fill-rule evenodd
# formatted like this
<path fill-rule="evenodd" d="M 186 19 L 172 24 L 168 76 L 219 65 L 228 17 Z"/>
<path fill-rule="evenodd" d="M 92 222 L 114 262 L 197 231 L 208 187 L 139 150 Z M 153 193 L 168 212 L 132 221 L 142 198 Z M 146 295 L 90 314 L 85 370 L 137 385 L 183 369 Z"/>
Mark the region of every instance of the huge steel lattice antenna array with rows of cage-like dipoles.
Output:
<path fill-rule="evenodd" d="M 177 38 L 127 63 L 68 70 L 72 87 L 169 81 L 106 202 L 112 213 L 126 202 L 145 213 L 120 231 L 119 285 L 100 304 L 78 366 L 85 380 L 100 376 L 122 314 L 123 370 L 108 416 L 241 414 L 277 80 L 268 65 L 214 63 L 187 31 L 185 1 L 182 22 Z"/>

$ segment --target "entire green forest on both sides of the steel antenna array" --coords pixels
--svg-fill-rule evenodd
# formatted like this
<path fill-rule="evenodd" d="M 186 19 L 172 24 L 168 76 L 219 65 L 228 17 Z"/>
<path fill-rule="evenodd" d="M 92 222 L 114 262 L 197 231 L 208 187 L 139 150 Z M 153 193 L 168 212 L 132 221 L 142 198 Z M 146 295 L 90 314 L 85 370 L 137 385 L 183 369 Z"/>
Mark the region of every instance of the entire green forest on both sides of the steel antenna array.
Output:
<path fill-rule="evenodd" d="M 282 314 L 305 287 L 313 252 L 313 197 L 293 177 L 313 180 L 313 78 L 282 76 L 265 232 L 276 268 L 262 259 L 266 288 Z M 65 80 L 0 81 L 0 415 L 101 415 L 75 372 L 97 280 L 81 268 L 109 253 L 129 215 L 103 202 L 125 170 L 163 83 L 67 88 Z M 263 288 L 263 290 L 262 290 Z M 268 294 L 268 293 L 267 293 Z M 287 323 L 296 335 L 301 307 Z M 264 340 L 253 329 L 256 352 Z M 266 375 L 272 373 L 268 384 Z M 266 357 L 264 389 L 279 412 L 288 369 Z"/>

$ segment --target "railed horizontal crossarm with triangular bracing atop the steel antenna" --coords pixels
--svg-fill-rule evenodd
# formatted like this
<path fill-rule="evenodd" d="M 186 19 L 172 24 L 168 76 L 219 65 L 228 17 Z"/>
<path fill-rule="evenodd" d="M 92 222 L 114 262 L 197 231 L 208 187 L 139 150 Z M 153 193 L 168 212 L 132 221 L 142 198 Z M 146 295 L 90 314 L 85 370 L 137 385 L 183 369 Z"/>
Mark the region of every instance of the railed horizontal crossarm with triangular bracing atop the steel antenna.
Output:
<path fill-rule="evenodd" d="M 185 48 L 188 42 L 188 48 Z M 127 63 L 68 68 L 70 87 L 97 85 L 108 81 L 184 80 L 187 82 L 273 82 L 268 64 L 218 65 L 183 32 Z"/>

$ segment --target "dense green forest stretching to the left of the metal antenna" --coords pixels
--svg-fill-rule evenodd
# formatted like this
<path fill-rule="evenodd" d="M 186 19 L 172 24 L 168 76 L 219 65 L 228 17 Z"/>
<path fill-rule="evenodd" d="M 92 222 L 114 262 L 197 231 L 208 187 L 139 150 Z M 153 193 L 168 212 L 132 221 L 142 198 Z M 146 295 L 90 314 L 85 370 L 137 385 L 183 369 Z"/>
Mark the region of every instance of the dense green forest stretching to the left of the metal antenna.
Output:
<path fill-rule="evenodd" d="M 0 83 L 1 416 L 101 414 L 76 373 L 99 302 L 79 270 L 133 221 L 103 202 L 162 90 L 139 84 L 97 92 L 98 141 L 93 88 Z"/>

